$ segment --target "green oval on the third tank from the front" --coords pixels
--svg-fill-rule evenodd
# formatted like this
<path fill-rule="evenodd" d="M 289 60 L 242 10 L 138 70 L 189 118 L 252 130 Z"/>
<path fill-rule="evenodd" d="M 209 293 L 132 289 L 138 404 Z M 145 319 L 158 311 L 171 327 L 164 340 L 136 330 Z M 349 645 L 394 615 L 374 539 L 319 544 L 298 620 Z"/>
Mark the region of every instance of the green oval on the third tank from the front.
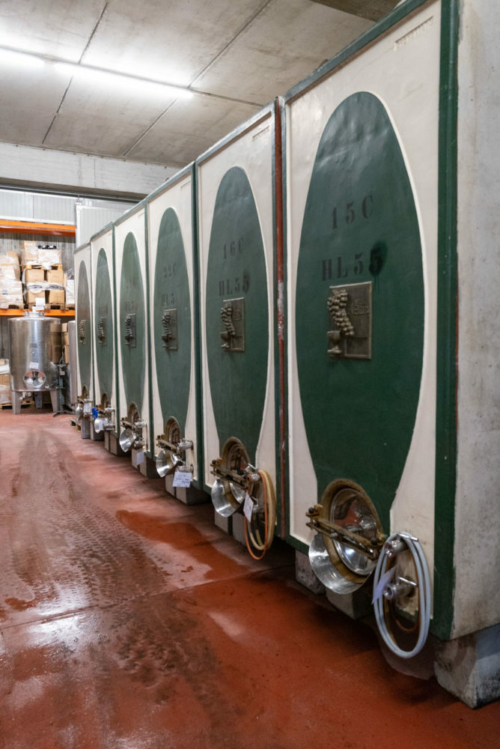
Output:
<path fill-rule="evenodd" d="M 163 423 L 185 435 L 191 380 L 191 303 L 184 243 L 173 208 L 162 216 L 154 280 L 154 347 Z"/>

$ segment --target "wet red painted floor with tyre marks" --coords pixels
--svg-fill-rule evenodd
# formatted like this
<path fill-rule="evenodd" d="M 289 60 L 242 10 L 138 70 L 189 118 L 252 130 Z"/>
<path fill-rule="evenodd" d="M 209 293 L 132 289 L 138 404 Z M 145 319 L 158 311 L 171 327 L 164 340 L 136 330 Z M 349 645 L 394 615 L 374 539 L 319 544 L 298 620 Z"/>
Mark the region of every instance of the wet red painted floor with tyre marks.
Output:
<path fill-rule="evenodd" d="M 0 413 L 2 749 L 498 749 L 375 635 L 67 417 Z"/>

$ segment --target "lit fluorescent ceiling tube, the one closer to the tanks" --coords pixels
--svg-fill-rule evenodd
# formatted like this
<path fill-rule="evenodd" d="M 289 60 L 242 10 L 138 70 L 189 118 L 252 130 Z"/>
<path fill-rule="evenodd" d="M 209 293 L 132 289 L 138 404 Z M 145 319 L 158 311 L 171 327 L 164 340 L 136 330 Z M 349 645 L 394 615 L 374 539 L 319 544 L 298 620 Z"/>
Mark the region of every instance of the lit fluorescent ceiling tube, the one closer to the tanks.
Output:
<path fill-rule="evenodd" d="M 181 86 L 173 86 L 168 83 L 151 81 L 144 78 L 128 75 L 127 73 L 117 73 L 113 70 L 102 70 L 93 68 L 89 65 L 77 65 L 71 62 L 54 63 L 55 68 L 66 75 L 83 81 L 89 81 L 95 85 L 119 86 L 127 91 L 133 90 L 137 94 L 168 95 L 176 98 L 191 99 L 193 92 Z"/>

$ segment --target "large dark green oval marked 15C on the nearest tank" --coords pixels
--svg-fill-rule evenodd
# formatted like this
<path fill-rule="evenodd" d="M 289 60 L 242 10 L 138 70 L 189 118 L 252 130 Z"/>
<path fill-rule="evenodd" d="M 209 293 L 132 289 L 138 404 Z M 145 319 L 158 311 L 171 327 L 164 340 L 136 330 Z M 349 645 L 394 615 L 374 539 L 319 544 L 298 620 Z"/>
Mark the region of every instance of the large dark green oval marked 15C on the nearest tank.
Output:
<path fill-rule="evenodd" d="M 296 292 L 300 397 L 318 499 L 334 479 L 355 481 L 388 530 L 418 405 L 424 287 L 410 180 L 387 112 L 372 94 L 347 98 L 323 132 Z M 353 337 L 363 326 L 365 337 Z M 338 349 L 340 356 L 332 353 Z M 344 358 L 356 351 L 367 358 Z"/>

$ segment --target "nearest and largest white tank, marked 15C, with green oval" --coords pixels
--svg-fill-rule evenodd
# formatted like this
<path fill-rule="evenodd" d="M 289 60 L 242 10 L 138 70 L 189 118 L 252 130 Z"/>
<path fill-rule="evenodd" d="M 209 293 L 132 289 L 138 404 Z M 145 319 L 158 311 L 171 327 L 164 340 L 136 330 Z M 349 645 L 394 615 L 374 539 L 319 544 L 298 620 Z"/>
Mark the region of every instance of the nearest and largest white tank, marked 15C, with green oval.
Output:
<path fill-rule="evenodd" d="M 478 169 L 493 159 L 496 174 L 500 158 L 474 51 L 492 35 L 485 8 L 463 4 L 459 43 L 457 3 L 402 4 L 284 112 L 297 576 L 317 589 L 310 562 L 351 616 L 374 577 L 386 645 L 407 659 L 430 627 L 438 680 L 472 706 L 500 694 L 500 273 L 486 249 L 499 220 Z"/>

